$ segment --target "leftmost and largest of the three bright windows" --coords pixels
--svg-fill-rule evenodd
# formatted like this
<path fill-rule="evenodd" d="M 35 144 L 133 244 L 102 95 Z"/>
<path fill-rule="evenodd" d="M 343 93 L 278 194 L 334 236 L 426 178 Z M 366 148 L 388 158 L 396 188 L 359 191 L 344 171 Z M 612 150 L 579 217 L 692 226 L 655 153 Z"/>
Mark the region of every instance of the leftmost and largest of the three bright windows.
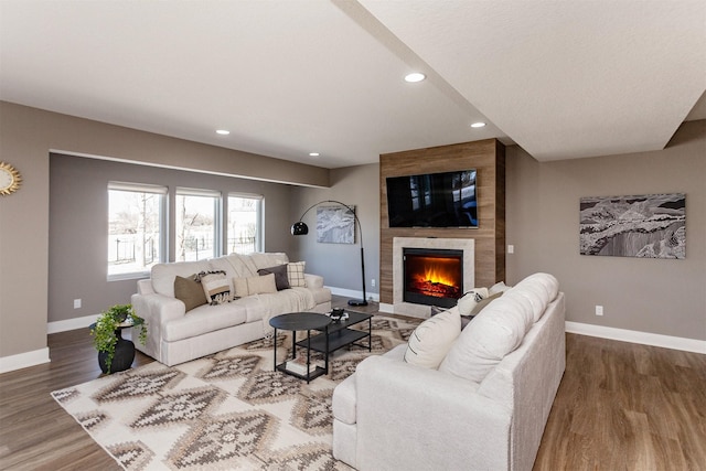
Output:
<path fill-rule="evenodd" d="M 165 261 L 164 216 L 167 189 L 108 183 L 108 279 L 149 272 Z"/>

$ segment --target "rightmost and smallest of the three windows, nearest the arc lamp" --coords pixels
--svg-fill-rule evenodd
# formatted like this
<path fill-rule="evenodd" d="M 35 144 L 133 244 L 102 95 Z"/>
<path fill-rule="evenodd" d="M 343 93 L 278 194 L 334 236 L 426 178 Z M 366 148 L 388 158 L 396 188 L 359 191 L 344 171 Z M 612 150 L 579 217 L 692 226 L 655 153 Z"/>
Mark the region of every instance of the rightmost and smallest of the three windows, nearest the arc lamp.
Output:
<path fill-rule="evenodd" d="M 231 193 L 228 195 L 228 239 L 226 254 L 263 250 L 263 196 Z"/>

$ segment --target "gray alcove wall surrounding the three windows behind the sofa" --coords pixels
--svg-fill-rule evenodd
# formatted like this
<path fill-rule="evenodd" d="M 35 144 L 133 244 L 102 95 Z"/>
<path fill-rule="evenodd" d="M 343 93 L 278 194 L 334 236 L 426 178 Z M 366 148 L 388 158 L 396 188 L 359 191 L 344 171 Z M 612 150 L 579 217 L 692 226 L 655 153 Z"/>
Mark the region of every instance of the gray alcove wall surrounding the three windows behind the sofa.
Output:
<path fill-rule="evenodd" d="M 50 158 L 49 321 L 96 314 L 130 302 L 136 280 L 106 280 L 108 181 L 160 184 L 170 192 L 170 240 L 178 186 L 265 196 L 265 249 L 288 251 L 291 186 L 83 157 Z M 224 235 L 225 237 L 225 235 Z M 170 260 L 174 244 L 170 242 Z M 82 299 L 74 309 L 73 300 Z"/>

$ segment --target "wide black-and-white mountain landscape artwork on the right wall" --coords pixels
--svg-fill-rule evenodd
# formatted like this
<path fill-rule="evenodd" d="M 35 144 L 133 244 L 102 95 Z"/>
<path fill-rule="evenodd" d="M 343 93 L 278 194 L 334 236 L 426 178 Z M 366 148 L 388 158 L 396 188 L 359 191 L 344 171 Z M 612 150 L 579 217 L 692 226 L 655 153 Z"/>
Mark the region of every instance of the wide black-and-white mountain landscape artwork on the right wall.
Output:
<path fill-rule="evenodd" d="M 686 257 L 686 194 L 581 197 L 580 254 Z"/>

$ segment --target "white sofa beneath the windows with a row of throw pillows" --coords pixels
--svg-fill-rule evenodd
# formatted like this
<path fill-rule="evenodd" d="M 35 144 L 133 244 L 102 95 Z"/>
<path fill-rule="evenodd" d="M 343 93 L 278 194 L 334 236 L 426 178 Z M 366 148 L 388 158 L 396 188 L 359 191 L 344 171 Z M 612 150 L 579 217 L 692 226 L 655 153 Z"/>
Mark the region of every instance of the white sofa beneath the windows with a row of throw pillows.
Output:
<path fill-rule="evenodd" d="M 175 365 L 225 349 L 263 339 L 271 332 L 274 315 L 331 310 L 331 290 L 323 287 L 323 278 L 303 275 L 300 285 L 275 292 L 244 296 L 229 302 L 205 303 L 186 311 L 186 304 L 174 297 L 176 277 L 188 278 L 200 272 L 225 271 L 234 281 L 258 280 L 258 270 L 288 265 L 286 254 L 249 254 L 200 261 L 158 264 L 151 277 L 138 281 L 138 292 L 131 302 L 136 313 L 148 323 L 146 345 L 135 346 L 154 360 Z M 300 266 L 302 263 L 298 263 Z"/>

